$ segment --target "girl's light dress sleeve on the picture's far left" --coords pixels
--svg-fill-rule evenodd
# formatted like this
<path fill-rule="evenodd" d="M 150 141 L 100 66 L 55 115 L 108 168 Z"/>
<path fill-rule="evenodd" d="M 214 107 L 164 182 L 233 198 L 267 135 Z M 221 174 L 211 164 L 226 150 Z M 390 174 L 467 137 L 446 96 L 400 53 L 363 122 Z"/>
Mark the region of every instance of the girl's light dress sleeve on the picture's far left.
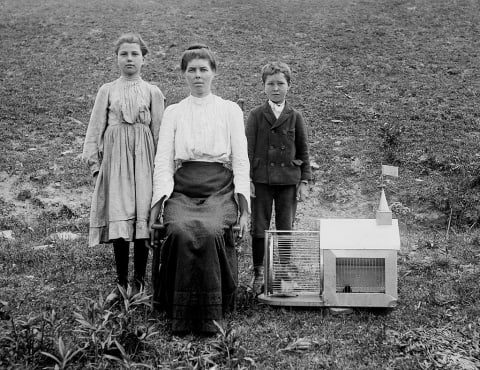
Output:
<path fill-rule="evenodd" d="M 100 170 L 101 164 L 101 139 L 107 126 L 108 116 L 108 85 L 103 85 L 97 93 L 95 104 L 90 115 L 87 134 L 83 144 L 82 158 L 90 167 L 92 175 Z"/>

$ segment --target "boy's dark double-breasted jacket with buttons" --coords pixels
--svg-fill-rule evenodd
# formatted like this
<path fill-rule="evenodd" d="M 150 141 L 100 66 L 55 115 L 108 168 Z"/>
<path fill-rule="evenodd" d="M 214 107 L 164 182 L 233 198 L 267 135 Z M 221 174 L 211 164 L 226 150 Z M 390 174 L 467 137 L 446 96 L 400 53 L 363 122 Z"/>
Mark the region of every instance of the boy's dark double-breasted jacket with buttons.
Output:
<path fill-rule="evenodd" d="M 307 130 L 300 112 L 287 102 L 278 119 L 268 101 L 253 109 L 246 136 L 253 182 L 296 185 L 311 180 Z"/>

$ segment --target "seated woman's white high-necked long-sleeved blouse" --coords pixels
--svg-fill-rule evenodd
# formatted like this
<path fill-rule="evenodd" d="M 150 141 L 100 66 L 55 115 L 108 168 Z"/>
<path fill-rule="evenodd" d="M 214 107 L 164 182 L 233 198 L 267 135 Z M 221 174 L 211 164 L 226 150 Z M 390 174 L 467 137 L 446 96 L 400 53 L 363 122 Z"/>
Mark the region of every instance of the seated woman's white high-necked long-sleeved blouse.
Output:
<path fill-rule="evenodd" d="M 175 161 L 231 163 L 235 193 L 250 209 L 250 163 L 240 107 L 210 94 L 189 96 L 165 109 L 153 174 L 152 207 L 173 191 Z"/>

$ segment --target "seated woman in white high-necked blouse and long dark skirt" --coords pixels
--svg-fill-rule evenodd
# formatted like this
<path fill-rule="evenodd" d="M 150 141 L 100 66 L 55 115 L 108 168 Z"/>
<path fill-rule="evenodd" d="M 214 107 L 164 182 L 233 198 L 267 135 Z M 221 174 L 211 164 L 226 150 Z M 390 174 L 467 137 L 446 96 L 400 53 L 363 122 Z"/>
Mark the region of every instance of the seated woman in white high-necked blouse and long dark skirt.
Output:
<path fill-rule="evenodd" d="M 238 223 L 240 237 L 247 232 L 250 169 L 241 109 L 211 92 L 210 49 L 189 47 L 181 70 L 190 96 L 165 110 L 155 157 L 150 223 L 163 208 L 167 234 L 153 267 L 154 303 L 174 332 L 208 333 L 234 304 L 231 226 Z"/>

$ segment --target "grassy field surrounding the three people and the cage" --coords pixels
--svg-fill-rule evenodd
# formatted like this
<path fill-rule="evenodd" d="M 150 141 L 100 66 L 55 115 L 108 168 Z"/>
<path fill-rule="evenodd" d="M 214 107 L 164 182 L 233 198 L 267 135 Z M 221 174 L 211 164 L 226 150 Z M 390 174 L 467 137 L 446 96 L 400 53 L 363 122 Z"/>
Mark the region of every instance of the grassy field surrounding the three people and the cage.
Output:
<path fill-rule="evenodd" d="M 13 234 L 0 238 L 0 368 L 480 367 L 478 0 L 1 0 L 0 9 L 0 231 Z M 246 242 L 238 310 L 218 337 L 172 336 L 148 297 L 103 306 L 113 253 L 86 246 L 93 189 L 79 155 L 95 94 L 118 76 L 112 45 L 125 31 L 148 42 L 143 77 L 167 104 L 187 94 L 179 57 L 194 41 L 218 57 L 215 92 L 243 99 L 246 113 L 264 99 L 261 66 L 292 66 L 289 101 L 320 167 L 298 228 L 373 217 L 380 165 L 399 166 L 386 182 L 401 224 L 396 309 L 261 305 L 246 292 Z"/>

